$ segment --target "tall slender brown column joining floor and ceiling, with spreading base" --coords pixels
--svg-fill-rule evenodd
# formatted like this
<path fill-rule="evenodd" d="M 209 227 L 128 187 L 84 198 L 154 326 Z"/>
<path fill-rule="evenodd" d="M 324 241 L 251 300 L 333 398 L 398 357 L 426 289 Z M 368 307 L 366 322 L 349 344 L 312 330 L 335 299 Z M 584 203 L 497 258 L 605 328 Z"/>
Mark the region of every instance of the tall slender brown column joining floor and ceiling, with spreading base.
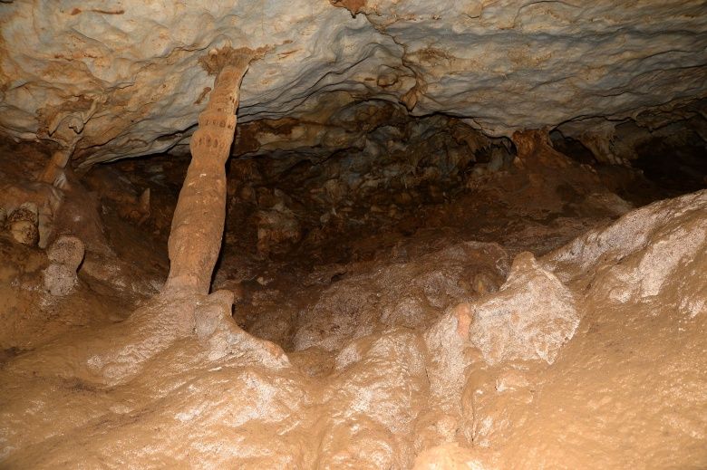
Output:
<path fill-rule="evenodd" d="M 54 373 L 109 384 L 125 382 L 140 373 L 146 361 L 194 332 L 206 341 L 215 358 L 234 348 L 265 350 L 264 354 L 275 358 L 282 355 L 274 345 L 249 340 L 247 333 L 233 323 L 230 318 L 233 293 L 208 294 L 223 236 L 224 162 L 236 125 L 238 86 L 254 56 L 249 50 L 227 49 L 210 53 L 205 61 L 205 66 L 215 68 L 217 77 L 208 109 L 200 117 L 203 131 L 193 141 L 193 158 L 174 211 L 169 235 L 171 264 L 161 292 L 132 312 L 126 321 L 94 332 L 84 341 L 77 357 L 71 363 L 57 366 Z M 66 238 L 57 241 L 50 250 L 50 259 L 66 251 L 63 247 L 68 245 L 75 244 Z M 44 273 L 45 284 L 51 293 L 64 295 L 73 287 L 78 264 L 75 260 L 68 262 L 73 267 L 69 275 L 67 262 L 53 261 Z M 48 345 L 40 354 L 29 355 L 26 358 L 29 367 L 34 367 L 31 364 L 41 354 L 51 354 L 51 350 L 65 346 L 60 341 Z"/>

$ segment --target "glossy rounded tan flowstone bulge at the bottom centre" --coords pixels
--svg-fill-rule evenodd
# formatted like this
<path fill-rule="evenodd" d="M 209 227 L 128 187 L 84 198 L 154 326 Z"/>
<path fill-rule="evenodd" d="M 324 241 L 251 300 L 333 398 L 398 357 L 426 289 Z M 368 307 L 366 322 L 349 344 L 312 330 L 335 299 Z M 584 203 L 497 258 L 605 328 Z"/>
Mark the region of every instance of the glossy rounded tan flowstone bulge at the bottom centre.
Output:
<path fill-rule="evenodd" d="M 406 437 L 421 412 L 427 380 L 423 344 L 409 331 L 354 341 L 337 357 L 324 390 L 321 468 L 409 468 Z"/>

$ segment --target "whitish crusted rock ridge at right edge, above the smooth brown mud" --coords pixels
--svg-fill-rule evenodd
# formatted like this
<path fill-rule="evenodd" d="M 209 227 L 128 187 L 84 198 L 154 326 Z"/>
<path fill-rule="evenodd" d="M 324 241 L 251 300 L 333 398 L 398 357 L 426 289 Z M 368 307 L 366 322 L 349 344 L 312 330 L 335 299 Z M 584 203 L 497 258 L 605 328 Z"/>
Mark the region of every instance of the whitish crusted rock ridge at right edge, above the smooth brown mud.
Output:
<path fill-rule="evenodd" d="M 566 281 L 595 271 L 595 301 L 657 301 L 692 318 L 707 312 L 705 212 L 707 190 L 658 201 L 578 237 L 543 262 Z"/>

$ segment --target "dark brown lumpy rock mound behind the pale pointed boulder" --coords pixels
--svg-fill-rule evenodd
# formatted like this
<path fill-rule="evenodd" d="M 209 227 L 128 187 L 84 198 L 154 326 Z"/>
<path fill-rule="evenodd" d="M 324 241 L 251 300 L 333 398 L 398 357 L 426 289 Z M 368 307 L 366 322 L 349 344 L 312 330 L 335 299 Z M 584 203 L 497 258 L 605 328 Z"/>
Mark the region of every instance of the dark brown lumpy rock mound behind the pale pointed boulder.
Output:
<path fill-rule="evenodd" d="M 507 257 L 499 245 L 467 242 L 410 263 L 392 264 L 373 275 L 347 277 L 298 312 L 294 348 L 339 350 L 344 341 L 387 327 L 428 326 L 440 311 L 475 294 L 475 275 L 502 279 Z"/>

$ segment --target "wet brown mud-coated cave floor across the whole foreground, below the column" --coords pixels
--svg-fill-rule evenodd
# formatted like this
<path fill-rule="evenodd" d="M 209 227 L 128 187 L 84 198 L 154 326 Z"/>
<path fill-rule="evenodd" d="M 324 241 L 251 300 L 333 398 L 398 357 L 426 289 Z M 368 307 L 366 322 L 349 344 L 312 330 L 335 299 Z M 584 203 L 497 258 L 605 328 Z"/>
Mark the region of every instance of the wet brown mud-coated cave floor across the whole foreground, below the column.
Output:
<path fill-rule="evenodd" d="M 234 285 L 236 318 L 256 312 L 249 331 L 284 348 L 237 328 L 230 291 L 119 308 L 131 287 L 83 267 L 72 292 L 50 296 L 47 255 L 78 256 L 0 236 L 9 260 L 0 269 L 0 465 L 706 465 L 707 192 L 612 222 L 625 201 L 583 192 L 594 172 L 575 178 L 579 166 L 566 162 L 557 178 L 561 158 L 523 169 L 548 152 L 547 135 L 528 135 L 519 162 L 471 177 L 468 199 L 436 203 L 449 218 L 432 225 L 451 219 L 470 232 L 382 225 L 373 257 L 294 274 L 258 259 L 281 272 L 262 268 Z M 560 181 L 577 190 L 565 189 L 561 204 Z M 111 231 L 129 235 L 123 206 L 137 198 L 110 201 L 103 215 L 125 217 Z M 474 241 L 484 236 L 502 245 Z M 147 239 L 125 240 L 138 252 Z M 86 256 L 95 256 L 88 245 Z M 141 256 L 133 264 L 147 269 L 151 254 Z M 496 354 L 501 335 L 509 353 Z"/>

